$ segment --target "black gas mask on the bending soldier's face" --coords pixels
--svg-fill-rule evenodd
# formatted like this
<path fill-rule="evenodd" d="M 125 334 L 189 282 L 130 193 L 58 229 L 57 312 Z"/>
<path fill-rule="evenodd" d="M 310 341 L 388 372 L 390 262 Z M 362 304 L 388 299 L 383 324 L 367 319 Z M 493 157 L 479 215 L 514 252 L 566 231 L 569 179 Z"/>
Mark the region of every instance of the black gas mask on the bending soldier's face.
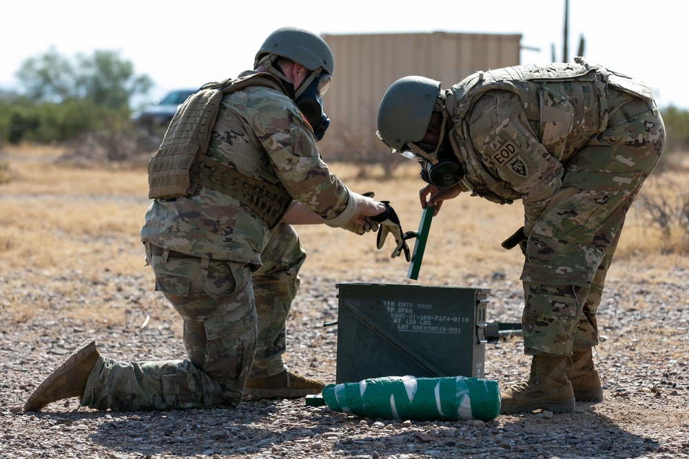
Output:
<path fill-rule="evenodd" d="M 464 167 L 457 159 L 450 143 L 449 132 L 445 129 L 443 120 L 442 131 L 444 136 L 434 145 L 430 142 L 408 142 L 408 149 L 402 151 L 402 156 L 417 160 L 421 164 L 421 178 L 426 183 L 439 188 L 449 188 L 462 180 Z"/>

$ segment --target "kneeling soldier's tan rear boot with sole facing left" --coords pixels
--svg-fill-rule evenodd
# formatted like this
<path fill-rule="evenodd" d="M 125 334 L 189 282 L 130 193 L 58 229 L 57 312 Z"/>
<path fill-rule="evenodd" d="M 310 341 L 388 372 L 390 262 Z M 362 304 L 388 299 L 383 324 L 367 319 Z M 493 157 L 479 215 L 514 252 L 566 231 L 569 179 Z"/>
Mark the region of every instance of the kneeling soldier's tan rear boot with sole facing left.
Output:
<path fill-rule="evenodd" d="M 86 381 L 101 355 L 96 341 L 88 339 L 81 343 L 62 365 L 45 378 L 24 404 L 25 412 L 41 411 L 45 405 L 63 398 L 80 397 L 84 394 Z"/>

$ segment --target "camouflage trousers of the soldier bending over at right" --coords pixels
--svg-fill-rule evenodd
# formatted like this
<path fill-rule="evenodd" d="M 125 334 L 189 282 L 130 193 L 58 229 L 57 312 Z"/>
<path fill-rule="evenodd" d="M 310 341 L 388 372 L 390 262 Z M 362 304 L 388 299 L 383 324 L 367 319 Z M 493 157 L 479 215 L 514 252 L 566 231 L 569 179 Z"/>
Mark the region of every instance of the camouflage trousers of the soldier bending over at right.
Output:
<path fill-rule="evenodd" d="M 598 344 L 596 311 L 627 211 L 665 140 L 657 108 L 608 127 L 566 164 L 526 243 L 524 352 L 568 356 Z"/>

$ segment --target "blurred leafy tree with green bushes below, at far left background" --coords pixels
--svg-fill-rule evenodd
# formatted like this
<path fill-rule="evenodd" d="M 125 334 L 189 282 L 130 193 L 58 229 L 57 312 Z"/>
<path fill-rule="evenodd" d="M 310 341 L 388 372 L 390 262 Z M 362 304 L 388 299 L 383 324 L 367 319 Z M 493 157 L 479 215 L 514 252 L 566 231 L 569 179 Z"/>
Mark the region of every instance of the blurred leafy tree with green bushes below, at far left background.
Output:
<path fill-rule="evenodd" d="M 50 49 L 17 72 L 21 94 L 0 94 L 0 142 L 55 142 L 129 127 L 130 100 L 153 83 L 118 52 L 74 59 Z"/>

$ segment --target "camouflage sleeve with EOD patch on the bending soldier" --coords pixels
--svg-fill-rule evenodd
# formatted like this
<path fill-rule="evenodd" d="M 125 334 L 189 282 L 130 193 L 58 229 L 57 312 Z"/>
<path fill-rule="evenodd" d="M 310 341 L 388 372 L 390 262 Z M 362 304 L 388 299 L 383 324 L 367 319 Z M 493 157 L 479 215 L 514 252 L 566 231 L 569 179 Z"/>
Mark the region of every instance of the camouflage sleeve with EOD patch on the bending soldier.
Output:
<path fill-rule="evenodd" d="M 469 134 L 486 167 L 521 193 L 524 230 L 529 234 L 562 186 L 562 163 L 539 142 L 522 101 L 511 92 L 491 91 L 482 96 L 471 110 Z"/>

